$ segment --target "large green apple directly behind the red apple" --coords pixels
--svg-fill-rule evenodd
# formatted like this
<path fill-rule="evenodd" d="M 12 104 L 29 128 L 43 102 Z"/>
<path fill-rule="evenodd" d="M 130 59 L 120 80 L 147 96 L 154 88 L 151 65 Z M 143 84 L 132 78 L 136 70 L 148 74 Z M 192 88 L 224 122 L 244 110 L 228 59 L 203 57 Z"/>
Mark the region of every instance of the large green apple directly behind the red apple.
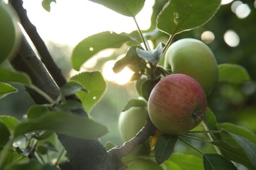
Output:
<path fill-rule="evenodd" d="M 219 79 L 219 69 L 211 49 L 197 39 L 181 39 L 165 53 L 165 68 L 172 73 L 189 75 L 198 80 L 209 95 Z"/>

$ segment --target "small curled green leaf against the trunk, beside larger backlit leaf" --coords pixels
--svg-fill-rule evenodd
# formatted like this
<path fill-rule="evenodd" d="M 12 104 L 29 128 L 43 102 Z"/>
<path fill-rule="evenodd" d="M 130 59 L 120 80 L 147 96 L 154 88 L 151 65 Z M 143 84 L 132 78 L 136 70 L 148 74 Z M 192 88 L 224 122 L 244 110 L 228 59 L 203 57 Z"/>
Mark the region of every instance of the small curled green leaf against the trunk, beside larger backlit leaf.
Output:
<path fill-rule="evenodd" d="M 64 84 L 64 86 L 62 86 L 60 88 L 60 92 L 64 96 L 73 95 L 76 92 L 79 92 L 81 90 L 83 90 L 84 92 L 88 92 L 87 90 L 85 90 L 83 88 L 83 86 L 81 84 L 79 84 L 79 82 L 75 82 L 75 81 L 72 81 L 72 80 L 68 81 L 66 84 Z"/>

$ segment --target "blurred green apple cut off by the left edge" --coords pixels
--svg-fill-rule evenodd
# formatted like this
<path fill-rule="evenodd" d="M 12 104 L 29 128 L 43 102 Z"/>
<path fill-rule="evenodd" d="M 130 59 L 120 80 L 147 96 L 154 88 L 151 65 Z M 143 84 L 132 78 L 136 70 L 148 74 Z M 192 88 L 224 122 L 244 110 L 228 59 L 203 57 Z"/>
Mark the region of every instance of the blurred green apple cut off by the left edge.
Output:
<path fill-rule="evenodd" d="M 12 57 L 20 42 L 18 16 L 11 5 L 0 1 L 0 63 Z"/>

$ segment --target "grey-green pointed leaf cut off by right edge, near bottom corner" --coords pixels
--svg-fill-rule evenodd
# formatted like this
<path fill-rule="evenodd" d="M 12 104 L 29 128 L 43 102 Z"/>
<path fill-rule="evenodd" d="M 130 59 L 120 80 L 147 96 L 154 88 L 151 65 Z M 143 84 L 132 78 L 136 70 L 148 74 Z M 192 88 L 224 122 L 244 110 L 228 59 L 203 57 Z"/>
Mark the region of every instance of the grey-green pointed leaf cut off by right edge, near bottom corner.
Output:
<path fill-rule="evenodd" d="M 236 135 L 234 133 L 228 132 L 230 136 L 238 143 L 240 144 L 241 148 L 244 150 L 245 154 L 247 155 L 247 158 L 249 158 L 249 161 L 253 165 L 254 169 L 256 169 L 256 144 L 251 143 L 251 141 L 248 141 L 244 137 L 241 137 L 239 135 Z"/>

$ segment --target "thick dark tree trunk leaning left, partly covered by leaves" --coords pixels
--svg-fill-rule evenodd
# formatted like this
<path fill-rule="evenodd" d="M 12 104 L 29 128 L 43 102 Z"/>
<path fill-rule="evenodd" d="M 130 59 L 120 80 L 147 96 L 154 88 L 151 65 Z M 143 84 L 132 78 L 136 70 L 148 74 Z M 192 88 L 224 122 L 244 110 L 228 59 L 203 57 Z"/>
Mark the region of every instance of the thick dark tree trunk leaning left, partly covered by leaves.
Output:
<path fill-rule="evenodd" d="M 22 38 L 18 54 L 12 58 L 11 64 L 14 69 L 27 73 L 33 85 L 47 93 L 53 99 L 57 99 L 59 88 L 49 75 L 47 69 L 40 59 L 33 52 L 30 44 L 25 37 Z M 44 104 L 47 101 L 33 90 L 27 89 L 37 104 Z M 78 110 L 83 112 L 83 110 Z M 85 116 L 85 114 L 84 114 Z M 68 126 L 68 122 L 67 122 Z M 97 140 L 84 140 L 57 134 L 58 139 L 67 151 L 70 161 L 60 165 L 62 169 L 86 170 L 86 169 L 113 169 L 112 162 L 108 159 L 108 154 L 104 146 Z"/>

